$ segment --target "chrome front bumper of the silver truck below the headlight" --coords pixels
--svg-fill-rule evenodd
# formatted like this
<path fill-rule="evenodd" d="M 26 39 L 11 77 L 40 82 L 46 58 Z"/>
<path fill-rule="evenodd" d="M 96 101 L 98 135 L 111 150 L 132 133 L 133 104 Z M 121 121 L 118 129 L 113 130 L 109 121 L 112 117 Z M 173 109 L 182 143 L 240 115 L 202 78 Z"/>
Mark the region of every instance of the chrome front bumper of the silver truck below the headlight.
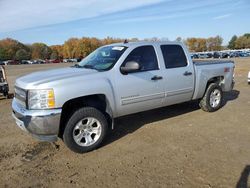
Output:
<path fill-rule="evenodd" d="M 12 116 L 22 130 L 41 141 L 57 140 L 61 119 L 61 109 L 27 110 L 15 98 L 12 101 Z"/>

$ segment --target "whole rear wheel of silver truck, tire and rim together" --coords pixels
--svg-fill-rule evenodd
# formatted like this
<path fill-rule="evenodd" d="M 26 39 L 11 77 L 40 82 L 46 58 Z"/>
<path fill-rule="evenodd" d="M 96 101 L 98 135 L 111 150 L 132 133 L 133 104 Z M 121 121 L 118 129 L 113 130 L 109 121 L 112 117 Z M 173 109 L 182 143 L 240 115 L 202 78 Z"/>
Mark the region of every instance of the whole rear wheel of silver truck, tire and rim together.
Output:
<path fill-rule="evenodd" d="M 200 107 L 206 112 L 214 112 L 222 106 L 223 93 L 218 84 L 208 86 L 205 95 L 200 101 Z"/>

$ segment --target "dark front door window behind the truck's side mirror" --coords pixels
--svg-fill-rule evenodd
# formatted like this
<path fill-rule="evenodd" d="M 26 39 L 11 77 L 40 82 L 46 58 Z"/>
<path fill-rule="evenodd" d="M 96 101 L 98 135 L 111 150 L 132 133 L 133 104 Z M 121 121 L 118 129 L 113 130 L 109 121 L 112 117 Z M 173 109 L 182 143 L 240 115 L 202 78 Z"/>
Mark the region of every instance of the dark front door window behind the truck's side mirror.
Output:
<path fill-rule="evenodd" d="M 126 64 L 129 61 L 135 61 L 139 63 L 140 70 L 137 72 L 159 69 L 153 46 L 140 46 L 135 48 L 132 52 L 130 52 L 123 64 Z"/>

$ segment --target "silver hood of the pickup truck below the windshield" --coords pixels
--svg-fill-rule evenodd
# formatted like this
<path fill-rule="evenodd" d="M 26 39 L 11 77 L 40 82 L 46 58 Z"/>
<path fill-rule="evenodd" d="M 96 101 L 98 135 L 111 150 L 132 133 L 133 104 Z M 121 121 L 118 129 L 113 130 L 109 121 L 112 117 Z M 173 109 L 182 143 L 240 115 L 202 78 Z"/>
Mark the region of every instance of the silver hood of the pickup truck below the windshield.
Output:
<path fill-rule="evenodd" d="M 29 86 L 37 86 L 53 81 L 58 81 L 67 78 L 79 77 L 89 74 L 97 73 L 98 71 L 93 69 L 67 67 L 60 69 L 53 69 L 48 71 L 40 71 L 22 76 L 16 80 L 16 85 L 23 89 L 27 89 Z"/>

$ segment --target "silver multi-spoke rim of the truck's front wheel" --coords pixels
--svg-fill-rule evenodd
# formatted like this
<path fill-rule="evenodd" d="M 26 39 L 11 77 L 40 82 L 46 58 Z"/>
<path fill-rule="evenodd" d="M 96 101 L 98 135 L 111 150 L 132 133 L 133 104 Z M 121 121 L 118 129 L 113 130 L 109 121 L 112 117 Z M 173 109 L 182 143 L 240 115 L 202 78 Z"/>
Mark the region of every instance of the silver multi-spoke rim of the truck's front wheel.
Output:
<path fill-rule="evenodd" d="M 101 123 L 96 118 L 87 117 L 74 127 L 73 138 L 79 146 L 91 146 L 100 138 L 101 132 Z"/>

